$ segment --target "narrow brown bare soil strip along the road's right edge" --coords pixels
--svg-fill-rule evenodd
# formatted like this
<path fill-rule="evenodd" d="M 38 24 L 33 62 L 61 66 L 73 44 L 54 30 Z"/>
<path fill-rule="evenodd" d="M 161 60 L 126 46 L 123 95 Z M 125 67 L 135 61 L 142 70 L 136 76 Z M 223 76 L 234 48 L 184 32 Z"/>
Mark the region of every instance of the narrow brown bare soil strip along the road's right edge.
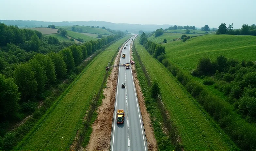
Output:
<path fill-rule="evenodd" d="M 132 44 L 133 44 L 133 41 L 131 43 L 131 46 L 132 46 Z M 133 52 L 132 52 L 132 47 L 131 47 L 130 48 L 131 60 L 133 60 L 132 53 Z M 146 138 L 147 138 L 148 150 L 149 151 L 157 151 L 157 143 L 155 140 L 154 131 L 153 131 L 153 128 L 151 125 L 149 113 L 146 110 L 144 97 L 143 97 L 143 94 L 142 94 L 140 86 L 139 86 L 139 80 L 137 78 L 137 74 L 135 71 L 135 64 L 131 65 L 131 67 L 133 69 L 133 78 L 134 78 L 137 97 L 138 97 L 138 101 L 139 101 L 140 112 L 141 112 L 142 120 L 143 120 L 143 124 L 144 124 L 144 130 L 145 130 L 145 134 L 146 134 Z"/>

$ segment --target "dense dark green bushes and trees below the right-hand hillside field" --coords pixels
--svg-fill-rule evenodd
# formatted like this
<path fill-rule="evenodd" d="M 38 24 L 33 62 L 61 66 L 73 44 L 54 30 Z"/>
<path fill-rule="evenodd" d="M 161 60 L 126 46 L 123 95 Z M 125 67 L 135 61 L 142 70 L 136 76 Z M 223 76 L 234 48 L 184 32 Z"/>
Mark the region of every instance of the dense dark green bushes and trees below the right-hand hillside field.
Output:
<path fill-rule="evenodd" d="M 205 85 L 215 84 L 215 88 L 228 96 L 229 102 L 249 122 L 256 122 L 256 64 L 252 61 L 238 62 L 220 54 L 215 60 L 200 58 L 194 76 L 209 76 Z"/>

